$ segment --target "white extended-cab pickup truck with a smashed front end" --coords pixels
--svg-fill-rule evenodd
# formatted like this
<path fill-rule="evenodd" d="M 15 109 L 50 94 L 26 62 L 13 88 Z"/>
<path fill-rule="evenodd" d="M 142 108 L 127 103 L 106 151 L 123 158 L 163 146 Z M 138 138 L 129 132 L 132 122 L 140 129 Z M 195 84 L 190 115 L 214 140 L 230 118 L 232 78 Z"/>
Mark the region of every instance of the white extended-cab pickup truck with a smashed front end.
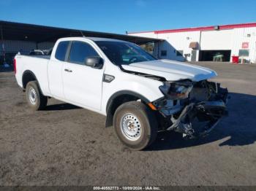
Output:
<path fill-rule="evenodd" d="M 131 149 L 148 147 L 162 130 L 205 136 L 227 114 L 227 89 L 207 81 L 215 71 L 158 60 L 131 42 L 63 38 L 49 56 L 14 62 L 31 108 L 44 109 L 53 97 L 103 114 Z"/>

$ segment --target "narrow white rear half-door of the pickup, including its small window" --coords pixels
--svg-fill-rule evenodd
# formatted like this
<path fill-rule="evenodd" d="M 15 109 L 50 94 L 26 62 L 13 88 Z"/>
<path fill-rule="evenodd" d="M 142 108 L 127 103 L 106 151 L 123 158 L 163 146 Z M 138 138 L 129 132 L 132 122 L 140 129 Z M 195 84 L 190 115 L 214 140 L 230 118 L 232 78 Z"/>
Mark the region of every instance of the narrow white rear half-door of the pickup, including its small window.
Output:
<path fill-rule="evenodd" d="M 59 42 L 56 48 L 55 55 L 51 55 L 48 63 L 48 82 L 50 93 L 55 98 L 64 98 L 63 82 L 62 82 L 62 69 L 64 67 L 64 61 L 67 57 L 67 48 L 69 41 Z"/>

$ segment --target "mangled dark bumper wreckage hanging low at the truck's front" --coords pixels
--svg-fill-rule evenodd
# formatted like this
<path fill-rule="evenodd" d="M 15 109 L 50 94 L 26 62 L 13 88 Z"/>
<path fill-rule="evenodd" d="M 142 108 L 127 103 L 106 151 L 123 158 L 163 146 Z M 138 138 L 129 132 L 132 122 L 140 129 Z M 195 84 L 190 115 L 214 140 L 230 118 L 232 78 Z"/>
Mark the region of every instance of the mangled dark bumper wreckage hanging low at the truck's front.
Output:
<path fill-rule="evenodd" d="M 220 118 L 227 115 L 225 102 L 221 99 L 189 104 L 184 107 L 177 119 L 171 118 L 173 125 L 167 130 L 183 133 L 183 136 L 189 139 L 206 136 Z"/>

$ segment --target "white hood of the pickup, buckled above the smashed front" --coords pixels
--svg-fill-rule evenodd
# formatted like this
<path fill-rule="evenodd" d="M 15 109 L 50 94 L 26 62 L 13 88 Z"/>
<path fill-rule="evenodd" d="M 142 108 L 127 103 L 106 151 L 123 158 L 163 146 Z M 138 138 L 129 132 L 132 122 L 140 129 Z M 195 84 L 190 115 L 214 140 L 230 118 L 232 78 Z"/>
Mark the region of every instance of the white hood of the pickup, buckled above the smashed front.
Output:
<path fill-rule="evenodd" d="M 164 77 L 167 81 L 191 79 L 194 82 L 198 82 L 203 79 L 217 77 L 217 73 L 211 69 L 170 60 L 131 63 L 129 65 L 122 65 L 122 68 L 127 71 Z"/>

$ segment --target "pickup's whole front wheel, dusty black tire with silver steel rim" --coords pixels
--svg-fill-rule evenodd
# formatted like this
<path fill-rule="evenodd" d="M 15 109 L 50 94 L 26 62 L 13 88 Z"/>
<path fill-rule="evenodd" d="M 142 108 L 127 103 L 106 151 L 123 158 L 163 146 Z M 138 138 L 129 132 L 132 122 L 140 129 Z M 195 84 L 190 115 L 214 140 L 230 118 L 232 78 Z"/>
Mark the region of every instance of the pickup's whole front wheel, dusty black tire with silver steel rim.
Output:
<path fill-rule="evenodd" d="M 140 136 L 135 138 L 135 140 L 130 140 L 132 138 L 125 135 L 124 125 L 122 125 L 131 118 L 129 114 L 131 114 L 131 116 L 135 116 L 135 119 L 137 119 L 133 122 L 140 124 L 139 127 L 135 127 L 137 131 L 140 130 Z M 119 106 L 113 117 L 113 126 L 118 139 L 120 139 L 124 145 L 133 150 L 145 149 L 157 138 L 157 119 L 151 109 L 139 101 L 129 101 Z M 134 128 L 134 126 L 132 126 L 132 128 Z"/>

